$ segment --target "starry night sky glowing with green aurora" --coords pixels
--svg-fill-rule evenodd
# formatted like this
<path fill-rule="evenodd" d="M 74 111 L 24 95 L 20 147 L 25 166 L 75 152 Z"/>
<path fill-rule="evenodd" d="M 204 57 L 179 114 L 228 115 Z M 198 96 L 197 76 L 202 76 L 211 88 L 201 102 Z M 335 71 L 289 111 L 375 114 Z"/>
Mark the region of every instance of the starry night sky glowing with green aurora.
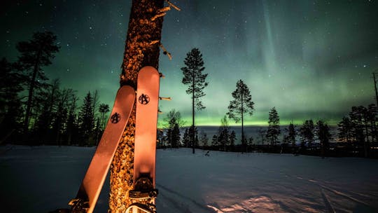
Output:
<path fill-rule="evenodd" d="M 375 103 L 372 72 L 378 72 L 378 1 L 176 0 L 181 11 L 165 15 L 160 56 L 160 110 L 180 111 L 191 121 L 191 99 L 181 83 L 192 48 L 203 54 L 209 86 L 196 125 L 220 125 L 231 93 L 242 79 L 255 111 L 247 125 L 267 125 L 276 107 L 281 124 L 307 119 L 340 121 L 352 106 Z M 1 57 L 17 60 L 19 41 L 49 30 L 61 49 L 50 78 L 83 97 L 98 90 L 113 105 L 119 87 L 131 1 L 2 1 Z M 81 104 L 81 101 L 79 102 Z M 160 116 L 161 118 L 164 116 Z M 160 118 L 160 123 L 162 119 Z M 230 123 L 235 125 L 235 123 Z"/>

